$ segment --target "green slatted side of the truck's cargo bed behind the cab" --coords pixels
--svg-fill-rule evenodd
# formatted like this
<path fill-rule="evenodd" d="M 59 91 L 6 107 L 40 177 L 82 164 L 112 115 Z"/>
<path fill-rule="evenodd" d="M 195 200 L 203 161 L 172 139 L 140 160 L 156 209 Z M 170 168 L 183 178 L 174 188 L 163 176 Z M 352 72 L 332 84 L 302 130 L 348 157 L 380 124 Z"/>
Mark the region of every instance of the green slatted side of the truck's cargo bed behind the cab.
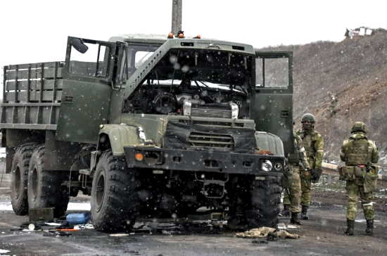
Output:
<path fill-rule="evenodd" d="M 0 128 L 56 129 L 63 67 L 63 62 L 5 66 Z"/>

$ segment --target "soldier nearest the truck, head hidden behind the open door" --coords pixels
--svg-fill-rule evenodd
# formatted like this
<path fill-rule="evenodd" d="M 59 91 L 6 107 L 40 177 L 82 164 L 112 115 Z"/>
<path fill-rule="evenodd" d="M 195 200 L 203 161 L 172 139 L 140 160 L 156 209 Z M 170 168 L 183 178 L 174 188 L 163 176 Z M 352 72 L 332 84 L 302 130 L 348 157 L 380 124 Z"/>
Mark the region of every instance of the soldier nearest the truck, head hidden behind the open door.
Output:
<path fill-rule="evenodd" d="M 303 146 L 303 141 L 296 133 L 293 133 L 294 139 L 294 157 L 288 159 L 289 167 L 292 172 L 291 187 L 285 189 L 284 196 L 284 211 L 282 215 L 288 216 L 289 210 L 291 212 L 291 224 L 301 224 L 298 220 L 298 213 L 300 212 L 300 197 L 301 197 L 301 179 L 300 172 L 309 169 L 309 163 Z M 290 195 L 289 195 L 290 193 Z"/>

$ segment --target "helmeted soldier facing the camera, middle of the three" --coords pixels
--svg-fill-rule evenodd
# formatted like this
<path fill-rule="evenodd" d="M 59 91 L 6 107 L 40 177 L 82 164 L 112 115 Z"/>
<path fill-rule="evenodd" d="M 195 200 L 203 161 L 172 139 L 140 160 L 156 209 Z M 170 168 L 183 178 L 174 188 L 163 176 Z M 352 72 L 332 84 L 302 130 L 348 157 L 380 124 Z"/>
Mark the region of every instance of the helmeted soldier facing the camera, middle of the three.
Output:
<path fill-rule="evenodd" d="M 322 157 L 324 155 L 324 141 L 321 134 L 315 131 L 315 122 L 315 116 L 310 113 L 306 113 L 301 118 L 302 130 L 297 132 L 297 135 L 303 140 L 303 145 L 310 167 L 310 169 L 305 169 L 300 172 L 302 219 L 309 219 L 309 216 L 307 215 L 307 208 L 310 205 L 310 188 L 312 182 L 318 182 L 319 177 L 322 174 L 321 166 Z"/>

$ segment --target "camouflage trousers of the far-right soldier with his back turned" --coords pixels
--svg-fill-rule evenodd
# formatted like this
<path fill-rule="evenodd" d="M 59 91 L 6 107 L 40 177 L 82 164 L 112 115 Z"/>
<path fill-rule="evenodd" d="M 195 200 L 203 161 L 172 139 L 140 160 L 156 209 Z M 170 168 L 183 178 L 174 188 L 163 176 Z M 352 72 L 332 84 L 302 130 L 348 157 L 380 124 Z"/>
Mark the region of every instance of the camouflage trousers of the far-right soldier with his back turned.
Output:
<path fill-rule="evenodd" d="M 347 219 L 355 220 L 357 212 L 357 198 L 360 196 L 365 219 L 374 219 L 375 211 L 372 205 L 373 192 L 364 192 L 364 186 L 359 181 L 347 181 L 345 186 L 348 196 Z"/>

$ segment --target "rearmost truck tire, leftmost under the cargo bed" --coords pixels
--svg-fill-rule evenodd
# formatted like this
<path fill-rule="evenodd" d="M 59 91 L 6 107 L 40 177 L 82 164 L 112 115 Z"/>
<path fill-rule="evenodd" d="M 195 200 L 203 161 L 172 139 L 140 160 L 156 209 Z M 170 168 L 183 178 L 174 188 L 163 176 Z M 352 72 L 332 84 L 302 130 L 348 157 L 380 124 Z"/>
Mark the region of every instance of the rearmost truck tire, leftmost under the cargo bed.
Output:
<path fill-rule="evenodd" d="M 28 214 L 28 165 L 30 164 L 31 155 L 35 146 L 34 143 L 24 144 L 16 148 L 15 155 L 13 155 L 11 167 L 11 204 L 13 212 L 16 215 Z"/>

